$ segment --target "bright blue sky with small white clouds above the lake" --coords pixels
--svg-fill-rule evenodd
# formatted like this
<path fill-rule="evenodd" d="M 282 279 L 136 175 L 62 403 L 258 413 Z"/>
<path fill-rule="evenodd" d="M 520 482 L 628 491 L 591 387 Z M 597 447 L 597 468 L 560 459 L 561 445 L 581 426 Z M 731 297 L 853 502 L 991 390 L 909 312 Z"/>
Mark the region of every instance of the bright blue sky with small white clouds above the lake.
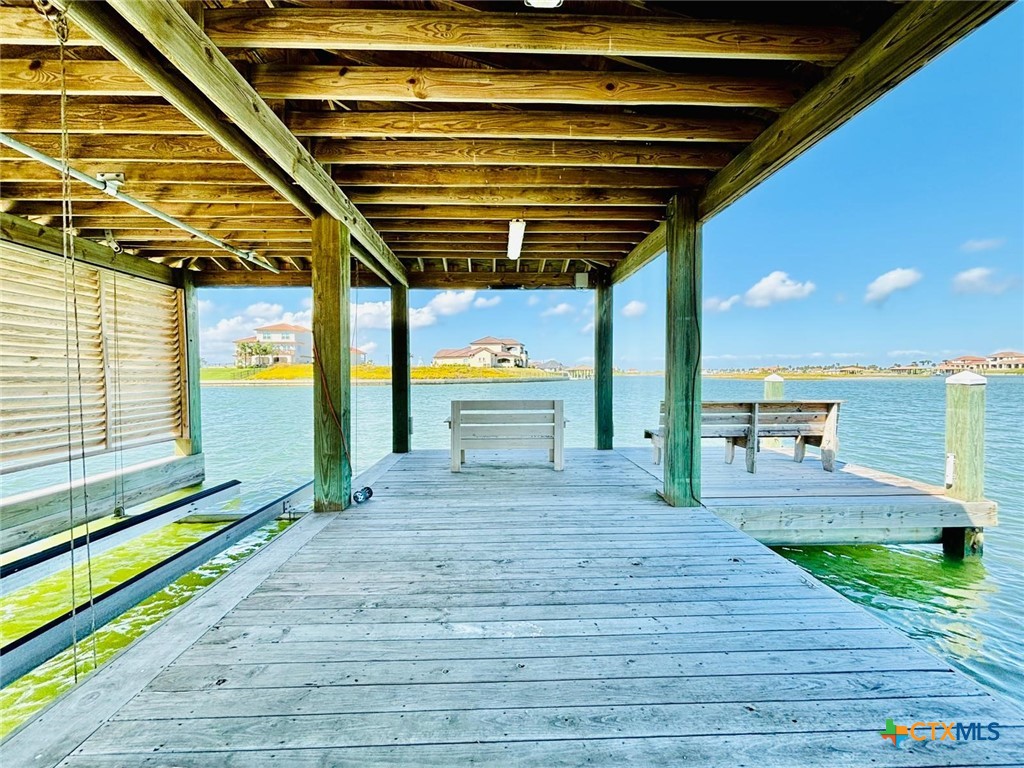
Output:
<path fill-rule="evenodd" d="M 1024 6 L 1017 4 L 705 226 L 706 368 L 933 360 L 1024 348 Z M 659 369 L 665 258 L 615 287 L 615 362 Z M 388 360 L 387 293 L 353 292 Z M 306 289 L 200 292 L 203 356 Z M 588 362 L 589 291 L 412 293 L 414 358 L 484 335 Z"/>

